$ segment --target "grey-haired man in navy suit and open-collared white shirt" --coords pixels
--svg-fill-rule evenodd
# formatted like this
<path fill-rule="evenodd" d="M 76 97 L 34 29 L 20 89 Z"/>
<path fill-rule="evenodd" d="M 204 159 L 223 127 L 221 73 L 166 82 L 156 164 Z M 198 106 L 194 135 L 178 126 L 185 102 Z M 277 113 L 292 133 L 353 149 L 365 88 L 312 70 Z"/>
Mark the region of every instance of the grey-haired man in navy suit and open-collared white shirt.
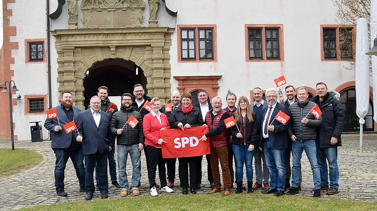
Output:
<path fill-rule="evenodd" d="M 93 197 L 95 190 L 93 172 L 98 164 L 98 186 L 101 198 L 108 198 L 108 151 L 111 150 L 109 135 L 109 115 L 101 112 L 101 98 L 97 95 L 90 99 L 90 109 L 79 113 L 76 140 L 82 141 L 85 156 L 85 200 Z"/>

